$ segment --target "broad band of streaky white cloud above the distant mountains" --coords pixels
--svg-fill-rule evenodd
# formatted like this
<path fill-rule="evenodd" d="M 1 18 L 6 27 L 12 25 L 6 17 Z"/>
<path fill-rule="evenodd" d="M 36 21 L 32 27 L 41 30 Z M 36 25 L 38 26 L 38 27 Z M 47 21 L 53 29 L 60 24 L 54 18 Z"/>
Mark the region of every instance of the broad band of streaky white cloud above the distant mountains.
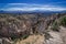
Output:
<path fill-rule="evenodd" d="M 61 8 L 51 4 L 30 4 L 30 3 L 8 3 L 4 11 L 64 11 L 66 8 Z"/>

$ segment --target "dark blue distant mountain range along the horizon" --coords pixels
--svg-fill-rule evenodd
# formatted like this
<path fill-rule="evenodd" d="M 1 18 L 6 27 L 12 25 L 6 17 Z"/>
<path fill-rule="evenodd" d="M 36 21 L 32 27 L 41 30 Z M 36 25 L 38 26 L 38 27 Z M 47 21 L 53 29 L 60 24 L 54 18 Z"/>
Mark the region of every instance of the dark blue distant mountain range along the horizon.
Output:
<path fill-rule="evenodd" d="M 66 13 L 66 11 L 0 11 L 0 13 Z"/>

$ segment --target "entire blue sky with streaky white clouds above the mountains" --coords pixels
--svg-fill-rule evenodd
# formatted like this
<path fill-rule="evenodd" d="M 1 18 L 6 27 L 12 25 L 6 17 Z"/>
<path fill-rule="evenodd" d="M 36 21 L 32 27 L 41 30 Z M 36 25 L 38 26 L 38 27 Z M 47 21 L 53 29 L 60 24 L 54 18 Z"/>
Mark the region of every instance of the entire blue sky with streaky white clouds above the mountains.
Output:
<path fill-rule="evenodd" d="M 65 11 L 66 0 L 0 0 L 3 11 Z"/>

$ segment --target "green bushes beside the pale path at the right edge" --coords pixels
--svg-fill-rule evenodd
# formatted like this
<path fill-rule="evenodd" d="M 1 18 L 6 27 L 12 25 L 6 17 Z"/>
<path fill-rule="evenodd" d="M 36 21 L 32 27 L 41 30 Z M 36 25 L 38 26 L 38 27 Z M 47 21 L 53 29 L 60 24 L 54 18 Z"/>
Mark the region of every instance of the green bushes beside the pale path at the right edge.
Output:
<path fill-rule="evenodd" d="M 65 16 L 61 16 L 59 19 L 57 19 L 57 21 L 55 20 L 55 22 L 52 25 L 52 30 L 53 31 L 59 31 L 59 25 L 66 26 L 66 15 Z"/>

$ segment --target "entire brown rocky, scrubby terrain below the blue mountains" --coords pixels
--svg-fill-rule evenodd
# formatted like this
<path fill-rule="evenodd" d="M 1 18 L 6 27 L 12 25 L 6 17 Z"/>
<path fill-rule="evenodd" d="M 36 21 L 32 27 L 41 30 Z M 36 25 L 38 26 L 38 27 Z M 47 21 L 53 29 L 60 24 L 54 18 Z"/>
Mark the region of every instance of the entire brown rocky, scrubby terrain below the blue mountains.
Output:
<path fill-rule="evenodd" d="M 61 24 L 62 16 L 66 14 L 0 14 L 0 43 L 66 44 L 66 29 Z"/>

